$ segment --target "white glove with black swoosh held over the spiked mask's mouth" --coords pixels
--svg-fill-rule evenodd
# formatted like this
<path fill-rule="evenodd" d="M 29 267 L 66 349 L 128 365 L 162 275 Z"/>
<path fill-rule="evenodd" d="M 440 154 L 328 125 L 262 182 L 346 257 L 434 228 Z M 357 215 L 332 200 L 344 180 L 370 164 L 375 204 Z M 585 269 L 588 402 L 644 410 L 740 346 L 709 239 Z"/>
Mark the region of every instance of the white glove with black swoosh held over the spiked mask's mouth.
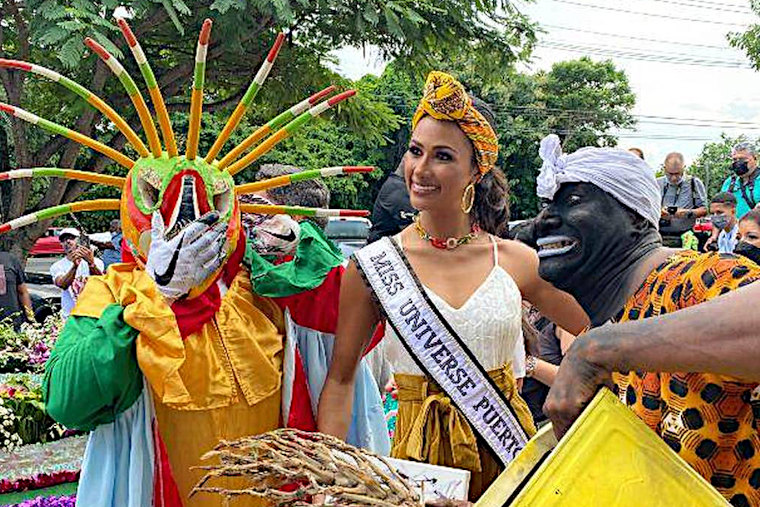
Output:
<path fill-rule="evenodd" d="M 225 260 L 226 222 L 218 222 L 219 214 L 211 212 L 180 232 L 164 238 L 164 219 L 153 213 L 151 243 L 145 270 L 167 299 L 175 301 L 190 289 L 201 285 Z"/>

